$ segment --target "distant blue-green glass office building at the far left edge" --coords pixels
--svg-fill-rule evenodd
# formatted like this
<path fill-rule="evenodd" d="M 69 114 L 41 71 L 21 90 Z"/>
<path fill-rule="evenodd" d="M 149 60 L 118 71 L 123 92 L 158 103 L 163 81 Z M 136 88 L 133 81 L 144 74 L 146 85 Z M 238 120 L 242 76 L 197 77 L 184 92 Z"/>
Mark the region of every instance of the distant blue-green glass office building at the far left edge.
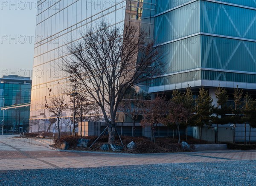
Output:
<path fill-rule="evenodd" d="M 29 77 L 9 75 L 0 78 L 0 130 L 4 121 L 5 131 L 28 131 L 31 83 Z"/>

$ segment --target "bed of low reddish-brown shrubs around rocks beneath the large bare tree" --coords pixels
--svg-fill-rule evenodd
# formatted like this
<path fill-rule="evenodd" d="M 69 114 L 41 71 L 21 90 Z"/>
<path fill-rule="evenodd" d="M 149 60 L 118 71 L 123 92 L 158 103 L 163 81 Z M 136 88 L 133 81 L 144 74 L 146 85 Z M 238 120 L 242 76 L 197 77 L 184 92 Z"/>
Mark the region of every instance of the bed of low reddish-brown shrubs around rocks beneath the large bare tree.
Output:
<path fill-rule="evenodd" d="M 89 149 L 90 145 L 96 140 L 97 136 L 87 136 L 83 137 L 86 139 L 90 139 L 88 147 L 77 147 L 78 139 L 81 138 L 79 136 L 63 136 L 60 140 L 54 140 L 55 144 L 51 145 L 51 147 L 60 148 L 60 145 L 67 141 L 69 143 L 68 150 L 78 150 L 78 151 L 96 151 L 96 152 L 113 152 L 111 149 L 109 151 L 102 151 L 100 147 L 103 144 L 108 143 L 108 136 L 104 136 L 100 138 L 93 146 Z M 181 145 L 178 144 L 178 140 L 176 138 L 156 138 L 156 143 L 151 142 L 148 138 L 145 137 L 131 137 L 131 136 L 121 136 L 122 142 L 124 144 L 123 153 L 165 153 L 165 152 L 188 152 L 182 149 Z M 126 146 L 131 141 L 134 141 L 137 145 L 136 149 L 128 149 Z M 185 140 L 181 140 L 185 141 Z M 206 141 L 189 138 L 186 141 L 188 144 L 207 144 Z M 115 144 L 122 146 L 118 136 L 115 138 Z M 193 151 L 193 150 L 191 150 Z"/>

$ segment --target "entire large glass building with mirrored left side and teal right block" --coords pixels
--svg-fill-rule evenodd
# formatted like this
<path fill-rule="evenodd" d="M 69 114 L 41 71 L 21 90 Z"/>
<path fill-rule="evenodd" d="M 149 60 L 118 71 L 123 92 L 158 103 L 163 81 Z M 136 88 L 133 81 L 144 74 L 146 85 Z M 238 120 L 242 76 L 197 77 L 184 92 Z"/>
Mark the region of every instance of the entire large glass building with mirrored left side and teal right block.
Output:
<path fill-rule="evenodd" d="M 39 0 L 37 6 L 31 126 L 51 115 L 44 109 L 48 88 L 61 94 L 67 86 L 59 70 L 67 46 L 103 19 L 121 27 L 140 23 L 163 51 L 165 73 L 142 87 L 149 93 L 256 89 L 256 0 Z"/>

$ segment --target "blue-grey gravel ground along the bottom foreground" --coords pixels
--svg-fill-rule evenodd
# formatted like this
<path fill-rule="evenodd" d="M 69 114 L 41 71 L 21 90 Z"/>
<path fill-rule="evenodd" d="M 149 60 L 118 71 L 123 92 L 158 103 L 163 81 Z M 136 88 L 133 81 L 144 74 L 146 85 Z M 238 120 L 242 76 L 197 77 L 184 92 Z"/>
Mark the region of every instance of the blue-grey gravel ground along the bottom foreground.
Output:
<path fill-rule="evenodd" d="M 1 186 L 256 186 L 256 161 L 0 171 Z"/>

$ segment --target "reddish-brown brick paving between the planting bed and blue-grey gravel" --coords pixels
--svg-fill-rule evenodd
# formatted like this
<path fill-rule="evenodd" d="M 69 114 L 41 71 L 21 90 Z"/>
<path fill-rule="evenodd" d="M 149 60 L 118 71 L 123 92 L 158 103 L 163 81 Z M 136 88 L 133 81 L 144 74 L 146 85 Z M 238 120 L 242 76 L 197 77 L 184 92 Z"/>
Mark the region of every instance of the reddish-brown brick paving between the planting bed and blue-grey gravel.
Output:
<path fill-rule="evenodd" d="M 110 155 L 82 152 L 58 152 L 46 146 L 50 140 L 0 138 L 0 170 L 86 168 L 99 166 L 145 165 L 256 160 L 256 151 L 219 151 L 160 155 Z"/>

